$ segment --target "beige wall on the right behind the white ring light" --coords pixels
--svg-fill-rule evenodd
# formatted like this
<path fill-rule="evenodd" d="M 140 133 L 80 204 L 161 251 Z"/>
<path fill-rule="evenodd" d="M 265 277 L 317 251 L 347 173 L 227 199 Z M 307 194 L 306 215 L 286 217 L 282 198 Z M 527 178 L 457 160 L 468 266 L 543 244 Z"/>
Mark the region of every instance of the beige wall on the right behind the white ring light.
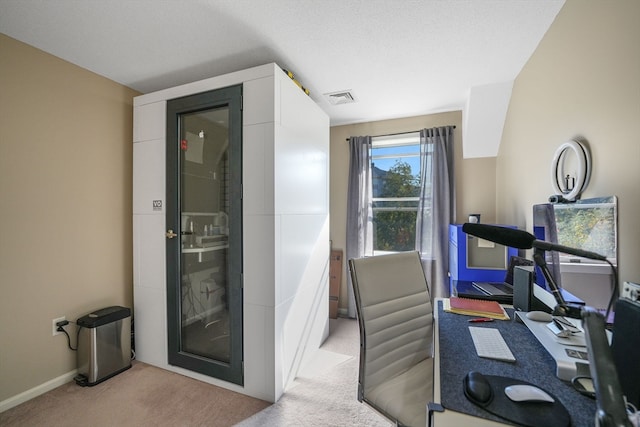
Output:
<path fill-rule="evenodd" d="M 517 77 L 497 162 L 498 220 L 532 229 L 566 140 L 593 158 L 583 198 L 617 195 L 620 281 L 640 282 L 640 2 L 567 0 Z"/>

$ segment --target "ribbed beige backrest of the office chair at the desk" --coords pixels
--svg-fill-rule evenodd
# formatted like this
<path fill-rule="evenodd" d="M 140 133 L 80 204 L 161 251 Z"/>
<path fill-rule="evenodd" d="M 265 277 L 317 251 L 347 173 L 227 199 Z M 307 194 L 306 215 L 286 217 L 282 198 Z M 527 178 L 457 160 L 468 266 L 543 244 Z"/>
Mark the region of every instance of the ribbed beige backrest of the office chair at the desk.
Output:
<path fill-rule="evenodd" d="M 432 355 L 433 309 L 417 252 L 349 260 L 360 322 L 363 397 Z"/>

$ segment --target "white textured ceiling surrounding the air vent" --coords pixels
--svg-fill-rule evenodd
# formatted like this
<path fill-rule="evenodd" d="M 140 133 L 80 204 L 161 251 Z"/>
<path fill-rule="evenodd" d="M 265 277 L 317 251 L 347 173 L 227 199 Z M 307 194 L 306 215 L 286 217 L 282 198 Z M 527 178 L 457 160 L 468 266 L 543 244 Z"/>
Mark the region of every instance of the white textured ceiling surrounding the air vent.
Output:
<path fill-rule="evenodd" d="M 0 0 L 0 32 L 143 93 L 276 62 L 332 125 L 462 110 L 564 0 Z M 355 103 L 324 93 L 350 90 Z"/>

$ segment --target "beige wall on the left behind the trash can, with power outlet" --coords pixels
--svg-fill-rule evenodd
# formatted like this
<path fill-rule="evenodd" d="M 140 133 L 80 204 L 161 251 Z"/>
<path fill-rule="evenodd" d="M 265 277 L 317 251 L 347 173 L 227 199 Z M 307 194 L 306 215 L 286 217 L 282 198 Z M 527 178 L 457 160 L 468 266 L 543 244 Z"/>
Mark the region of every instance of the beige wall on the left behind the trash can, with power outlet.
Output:
<path fill-rule="evenodd" d="M 52 319 L 132 305 L 137 93 L 0 34 L 0 94 L 2 402 L 75 369 Z"/>

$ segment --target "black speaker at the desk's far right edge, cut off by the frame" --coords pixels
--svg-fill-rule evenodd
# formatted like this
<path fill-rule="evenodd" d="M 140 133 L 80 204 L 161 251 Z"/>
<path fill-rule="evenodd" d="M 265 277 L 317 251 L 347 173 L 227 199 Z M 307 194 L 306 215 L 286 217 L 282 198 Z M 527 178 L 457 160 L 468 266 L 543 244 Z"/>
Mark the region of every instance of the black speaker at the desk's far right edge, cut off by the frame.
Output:
<path fill-rule="evenodd" d="M 640 302 L 620 298 L 613 321 L 611 353 L 627 401 L 640 407 Z"/>

